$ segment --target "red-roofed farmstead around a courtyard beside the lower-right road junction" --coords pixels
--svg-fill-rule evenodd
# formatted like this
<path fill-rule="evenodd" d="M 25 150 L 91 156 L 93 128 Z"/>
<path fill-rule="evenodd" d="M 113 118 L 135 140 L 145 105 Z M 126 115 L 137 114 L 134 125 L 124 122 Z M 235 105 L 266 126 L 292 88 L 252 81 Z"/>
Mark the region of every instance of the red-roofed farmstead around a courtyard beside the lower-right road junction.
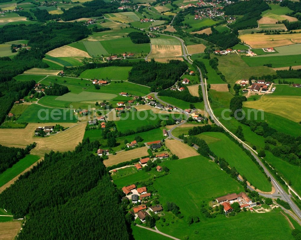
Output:
<path fill-rule="evenodd" d="M 228 194 L 226 196 L 218 197 L 218 198 L 216 198 L 216 202 L 218 202 L 219 205 L 224 206 L 225 213 L 229 213 L 229 212 L 233 211 L 231 204 L 233 204 L 234 202 L 239 203 L 240 209 L 250 208 L 250 211 L 253 211 L 252 207 L 257 205 L 257 203 L 252 202 L 251 199 L 244 192 L 241 192 L 239 194 L 232 193 L 232 194 Z"/>

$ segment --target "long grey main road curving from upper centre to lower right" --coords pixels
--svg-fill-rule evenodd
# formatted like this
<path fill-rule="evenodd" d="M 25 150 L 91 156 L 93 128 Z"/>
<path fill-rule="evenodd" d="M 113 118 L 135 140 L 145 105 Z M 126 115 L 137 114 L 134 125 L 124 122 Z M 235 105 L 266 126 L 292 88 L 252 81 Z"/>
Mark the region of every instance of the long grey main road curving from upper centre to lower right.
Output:
<path fill-rule="evenodd" d="M 166 35 L 166 34 L 162 34 L 161 35 Z M 168 35 L 170 36 L 170 35 Z M 178 39 L 182 45 L 182 49 L 183 49 L 183 56 L 185 58 L 185 60 L 187 60 L 190 64 L 193 64 L 193 61 L 189 58 L 189 54 L 187 51 L 187 48 L 184 44 L 184 41 L 181 38 L 178 38 L 176 36 L 172 36 L 176 39 Z M 271 182 L 273 184 L 273 186 L 275 187 L 276 193 L 279 192 L 282 196 L 282 200 L 288 202 L 288 204 L 290 205 L 290 207 L 293 209 L 293 211 L 295 212 L 295 214 L 297 215 L 297 217 L 299 219 L 301 219 L 301 211 L 300 209 L 297 207 L 297 205 L 290 199 L 290 196 L 285 192 L 285 190 L 281 187 L 281 185 L 275 180 L 275 178 L 272 176 L 272 174 L 266 169 L 265 165 L 261 162 L 261 160 L 259 159 L 259 157 L 257 156 L 257 152 L 255 150 L 252 149 L 252 147 L 250 147 L 248 144 L 244 143 L 243 141 L 241 141 L 236 135 L 234 135 L 234 133 L 232 133 L 231 131 L 229 131 L 220 121 L 219 118 L 216 117 L 213 113 L 213 110 L 210 106 L 209 100 L 208 100 L 208 94 L 207 94 L 207 87 L 206 87 L 206 79 L 204 81 L 203 79 L 203 75 L 202 72 L 200 70 L 200 68 L 197 66 L 197 70 L 200 73 L 200 86 L 202 87 L 202 93 L 203 93 L 203 99 L 204 99 L 204 105 L 205 105 L 205 109 L 207 111 L 207 113 L 209 114 L 209 116 L 211 117 L 211 119 L 214 121 L 214 123 L 220 127 L 222 127 L 226 132 L 228 132 L 232 137 L 234 137 L 239 143 L 241 143 L 245 149 L 249 150 L 251 152 L 251 154 L 255 157 L 256 161 L 259 163 L 260 166 L 262 166 L 262 168 L 264 169 L 266 175 L 268 177 L 271 178 Z M 156 99 L 157 98 L 157 94 L 155 94 Z M 158 99 L 160 100 L 160 99 Z M 160 100 L 162 102 L 162 100 Z M 166 103 L 166 102 L 165 102 Z M 166 103 L 169 104 L 169 103 Z M 175 138 L 172 133 L 171 133 L 172 129 L 170 129 L 169 132 L 169 136 L 172 138 Z M 182 141 L 181 139 L 175 138 L 177 140 Z M 264 160 L 263 160 L 264 161 Z M 260 194 L 260 193 L 259 193 Z"/>

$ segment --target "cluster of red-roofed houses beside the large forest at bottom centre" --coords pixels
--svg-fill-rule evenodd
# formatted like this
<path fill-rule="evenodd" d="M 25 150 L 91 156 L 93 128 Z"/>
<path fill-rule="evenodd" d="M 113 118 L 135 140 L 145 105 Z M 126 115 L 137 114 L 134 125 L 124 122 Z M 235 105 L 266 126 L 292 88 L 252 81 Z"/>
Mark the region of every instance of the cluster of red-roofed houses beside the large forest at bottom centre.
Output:
<path fill-rule="evenodd" d="M 122 188 L 122 190 L 126 194 L 126 196 L 123 197 L 123 199 L 129 199 L 134 204 L 141 203 L 141 201 L 144 201 L 145 199 L 151 196 L 151 193 L 147 192 L 146 187 L 137 188 L 135 184 L 125 186 Z M 141 204 L 137 207 L 134 207 L 131 211 L 129 211 L 129 213 L 132 214 L 135 217 L 135 219 L 138 217 L 142 223 L 145 223 L 146 217 L 150 215 L 149 212 L 157 214 L 162 211 L 163 208 L 161 205 L 154 205 L 147 208 L 145 204 Z"/>

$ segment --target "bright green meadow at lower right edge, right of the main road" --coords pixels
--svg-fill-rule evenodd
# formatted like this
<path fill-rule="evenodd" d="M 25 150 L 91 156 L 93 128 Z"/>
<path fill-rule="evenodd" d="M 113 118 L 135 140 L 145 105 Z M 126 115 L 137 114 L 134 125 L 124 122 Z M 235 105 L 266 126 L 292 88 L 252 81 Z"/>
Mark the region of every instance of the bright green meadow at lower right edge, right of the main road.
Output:
<path fill-rule="evenodd" d="M 299 166 L 289 164 L 269 151 L 265 151 L 265 160 L 280 171 L 285 179 L 290 180 L 291 187 L 301 194 L 301 169 Z"/>

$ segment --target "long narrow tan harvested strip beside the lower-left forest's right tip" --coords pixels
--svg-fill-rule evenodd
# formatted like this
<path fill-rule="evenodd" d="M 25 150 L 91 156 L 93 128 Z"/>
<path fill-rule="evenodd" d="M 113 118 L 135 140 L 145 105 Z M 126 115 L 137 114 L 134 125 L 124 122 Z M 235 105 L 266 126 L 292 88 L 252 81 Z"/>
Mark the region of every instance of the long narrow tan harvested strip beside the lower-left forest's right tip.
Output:
<path fill-rule="evenodd" d="M 146 155 L 148 155 L 147 147 L 138 147 L 129 151 L 121 151 L 116 155 L 109 155 L 109 159 L 104 160 L 104 165 L 108 167 L 118 163 L 131 161 L 132 159 L 146 156 Z"/>

